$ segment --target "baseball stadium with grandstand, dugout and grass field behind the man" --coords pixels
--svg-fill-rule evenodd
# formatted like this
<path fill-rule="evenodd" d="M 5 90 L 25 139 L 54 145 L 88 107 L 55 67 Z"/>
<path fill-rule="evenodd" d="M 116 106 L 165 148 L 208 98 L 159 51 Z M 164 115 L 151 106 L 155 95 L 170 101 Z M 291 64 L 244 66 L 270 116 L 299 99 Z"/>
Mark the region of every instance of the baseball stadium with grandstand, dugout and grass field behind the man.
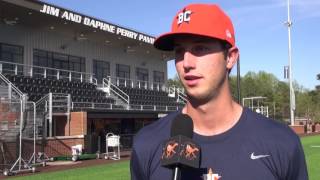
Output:
<path fill-rule="evenodd" d="M 30 179 L 130 179 L 134 135 L 187 101 L 169 86 L 174 54 L 155 49 L 155 39 L 43 1 L 0 0 L 0 179 L 42 170 Z M 242 105 L 269 117 L 264 99 Z M 301 136 L 305 127 L 292 126 Z M 318 137 L 301 138 L 311 179 L 320 178 Z M 88 161 L 49 175 L 55 160 Z"/>

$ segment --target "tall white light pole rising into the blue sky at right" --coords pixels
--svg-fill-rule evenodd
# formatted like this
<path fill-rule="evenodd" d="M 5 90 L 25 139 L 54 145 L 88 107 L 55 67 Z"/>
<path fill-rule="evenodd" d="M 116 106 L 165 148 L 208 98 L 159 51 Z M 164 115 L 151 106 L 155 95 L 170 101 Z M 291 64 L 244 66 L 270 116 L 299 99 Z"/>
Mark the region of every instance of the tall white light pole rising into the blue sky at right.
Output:
<path fill-rule="evenodd" d="M 292 26 L 292 22 L 290 19 L 290 0 L 287 0 L 287 8 L 288 8 L 288 21 L 286 22 L 286 25 L 288 27 L 290 122 L 291 122 L 291 125 L 294 125 L 295 98 L 294 98 L 294 90 L 292 87 L 292 67 L 291 67 L 291 26 Z"/>

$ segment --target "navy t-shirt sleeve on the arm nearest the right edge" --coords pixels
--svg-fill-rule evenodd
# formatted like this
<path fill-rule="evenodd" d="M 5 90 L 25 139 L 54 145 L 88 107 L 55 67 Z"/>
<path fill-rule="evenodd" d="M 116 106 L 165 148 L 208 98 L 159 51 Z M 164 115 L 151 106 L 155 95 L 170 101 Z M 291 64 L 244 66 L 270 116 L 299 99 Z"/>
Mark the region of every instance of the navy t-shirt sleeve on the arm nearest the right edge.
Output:
<path fill-rule="evenodd" d="M 308 171 L 303 148 L 299 138 L 291 156 L 287 180 L 308 180 Z"/>

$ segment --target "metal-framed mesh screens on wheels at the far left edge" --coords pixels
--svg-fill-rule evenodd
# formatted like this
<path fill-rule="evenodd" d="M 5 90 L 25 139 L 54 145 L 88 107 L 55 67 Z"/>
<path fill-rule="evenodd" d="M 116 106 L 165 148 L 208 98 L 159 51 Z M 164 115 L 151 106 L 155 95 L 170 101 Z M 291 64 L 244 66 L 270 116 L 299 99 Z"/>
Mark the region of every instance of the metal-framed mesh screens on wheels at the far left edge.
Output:
<path fill-rule="evenodd" d="M 5 175 L 33 170 L 35 162 L 35 104 L 0 102 L 0 169 Z"/>

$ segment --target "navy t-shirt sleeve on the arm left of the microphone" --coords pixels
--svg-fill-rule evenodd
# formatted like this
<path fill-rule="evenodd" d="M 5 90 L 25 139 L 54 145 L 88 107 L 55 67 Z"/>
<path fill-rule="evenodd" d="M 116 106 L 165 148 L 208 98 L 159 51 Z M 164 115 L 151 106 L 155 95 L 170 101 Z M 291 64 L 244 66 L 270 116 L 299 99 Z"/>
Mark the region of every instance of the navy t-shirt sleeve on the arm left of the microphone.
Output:
<path fill-rule="evenodd" d="M 131 180 L 147 180 L 136 150 L 133 148 L 130 159 Z"/>

